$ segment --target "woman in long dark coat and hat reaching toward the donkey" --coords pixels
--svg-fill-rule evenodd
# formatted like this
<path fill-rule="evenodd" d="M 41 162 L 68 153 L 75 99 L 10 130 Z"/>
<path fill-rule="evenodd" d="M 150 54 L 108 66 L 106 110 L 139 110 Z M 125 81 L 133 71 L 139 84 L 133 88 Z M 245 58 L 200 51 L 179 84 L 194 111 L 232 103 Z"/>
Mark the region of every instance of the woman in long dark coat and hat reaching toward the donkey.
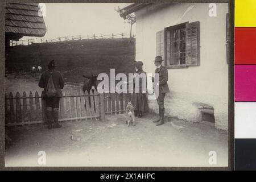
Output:
<path fill-rule="evenodd" d="M 135 115 L 139 118 L 142 117 L 144 112 L 146 111 L 147 105 L 147 97 L 146 97 L 146 89 L 147 89 L 147 77 L 146 72 L 142 69 L 143 63 L 142 61 L 136 61 L 135 67 L 137 69 L 137 76 L 134 78 L 134 93 L 133 93 L 133 107 Z M 142 75 L 144 74 L 144 75 Z M 144 77 L 144 78 L 141 78 Z M 139 84 L 136 84 L 136 80 Z M 137 90 L 137 92 L 135 92 Z M 139 92 L 138 92 L 139 91 Z"/>

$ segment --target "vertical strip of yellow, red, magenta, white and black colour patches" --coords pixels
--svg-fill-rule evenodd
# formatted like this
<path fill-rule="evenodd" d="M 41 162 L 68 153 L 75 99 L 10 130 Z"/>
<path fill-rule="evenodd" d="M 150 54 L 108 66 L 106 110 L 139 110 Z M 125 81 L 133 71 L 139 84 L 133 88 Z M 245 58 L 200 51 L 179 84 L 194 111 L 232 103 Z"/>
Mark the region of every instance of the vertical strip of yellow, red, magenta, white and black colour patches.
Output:
<path fill-rule="evenodd" d="M 256 169 L 256 1 L 234 11 L 234 168 Z"/>

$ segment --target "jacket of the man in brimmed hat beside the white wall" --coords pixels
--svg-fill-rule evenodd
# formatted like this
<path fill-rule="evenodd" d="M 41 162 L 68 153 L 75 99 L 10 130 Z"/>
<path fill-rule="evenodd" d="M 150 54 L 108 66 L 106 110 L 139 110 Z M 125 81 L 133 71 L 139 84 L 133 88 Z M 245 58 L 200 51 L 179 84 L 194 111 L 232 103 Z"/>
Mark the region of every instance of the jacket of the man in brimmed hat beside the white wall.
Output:
<path fill-rule="evenodd" d="M 159 93 L 168 93 L 170 89 L 168 87 L 168 71 L 166 68 L 161 66 L 159 69 L 156 68 L 155 73 L 159 74 Z"/>

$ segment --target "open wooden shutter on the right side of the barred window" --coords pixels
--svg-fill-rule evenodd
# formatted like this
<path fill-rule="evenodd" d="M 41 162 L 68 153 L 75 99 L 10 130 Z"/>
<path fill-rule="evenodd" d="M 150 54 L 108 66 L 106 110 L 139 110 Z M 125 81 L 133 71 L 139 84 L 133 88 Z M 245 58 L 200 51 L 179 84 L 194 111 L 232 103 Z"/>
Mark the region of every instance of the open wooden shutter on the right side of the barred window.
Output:
<path fill-rule="evenodd" d="M 186 24 L 186 65 L 200 65 L 200 22 Z"/>

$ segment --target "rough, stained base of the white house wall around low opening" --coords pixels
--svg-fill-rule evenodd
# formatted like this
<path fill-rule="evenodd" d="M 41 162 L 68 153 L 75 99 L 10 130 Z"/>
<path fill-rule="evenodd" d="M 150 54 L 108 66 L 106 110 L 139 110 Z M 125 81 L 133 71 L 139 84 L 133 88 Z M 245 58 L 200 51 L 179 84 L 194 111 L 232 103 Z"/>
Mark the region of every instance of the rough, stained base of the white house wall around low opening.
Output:
<path fill-rule="evenodd" d="M 211 107 L 214 109 L 215 126 L 217 129 L 228 130 L 228 100 L 225 97 L 196 95 L 184 92 L 170 92 L 166 94 L 164 106 L 167 117 L 176 117 L 188 122 L 200 122 L 200 109 Z M 158 113 L 156 100 L 148 101 L 149 111 Z"/>

